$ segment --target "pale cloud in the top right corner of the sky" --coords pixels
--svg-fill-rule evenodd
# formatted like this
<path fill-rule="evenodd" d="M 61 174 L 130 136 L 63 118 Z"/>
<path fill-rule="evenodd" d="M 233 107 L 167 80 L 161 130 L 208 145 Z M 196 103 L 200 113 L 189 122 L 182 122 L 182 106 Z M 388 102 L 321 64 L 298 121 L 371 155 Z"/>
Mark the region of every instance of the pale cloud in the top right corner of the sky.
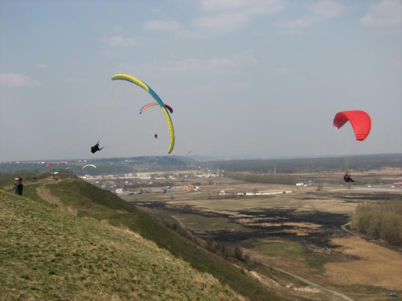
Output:
<path fill-rule="evenodd" d="M 402 1 L 381 0 L 378 4 L 370 5 L 360 23 L 367 26 L 402 24 Z"/>

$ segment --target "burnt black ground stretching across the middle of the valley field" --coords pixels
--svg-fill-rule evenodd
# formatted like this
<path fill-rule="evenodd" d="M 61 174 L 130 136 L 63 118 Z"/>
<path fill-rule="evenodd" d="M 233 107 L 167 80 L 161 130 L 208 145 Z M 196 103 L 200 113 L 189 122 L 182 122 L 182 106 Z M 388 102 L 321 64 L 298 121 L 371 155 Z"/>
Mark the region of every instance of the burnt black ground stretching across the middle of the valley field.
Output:
<path fill-rule="evenodd" d="M 165 202 L 157 201 L 142 201 L 135 203 L 136 206 L 146 207 L 150 209 L 158 209 L 174 213 L 196 214 L 209 218 L 229 218 L 232 223 L 239 223 L 243 228 L 251 231 L 192 231 L 194 235 L 208 239 L 213 238 L 215 241 L 239 244 L 251 238 L 287 238 L 305 244 L 315 245 L 317 247 L 335 248 L 330 244 L 334 236 L 342 237 L 347 233 L 342 231 L 341 226 L 349 221 L 347 214 L 330 213 L 323 211 L 298 211 L 296 209 L 283 208 L 254 208 L 248 210 L 237 210 L 234 213 L 250 216 L 250 221 L 253 220 L 253 225 L 247 225 L 238 222 L 239 218 L 233 218 L 233 215 L 222 214 L 209 211 L 200 211 L 191 205 L 171 205 Z M 241 219 L 244 220 L 244 217 Z M 314 223 L 321 225 L 317 229 L 303 228 L 296 225 L 267 226 L 264 223 Z M 258 225 L 260 224 L 260 225 Z M 308 235 L 299 236 L 296 233 L 286 232 L 289 230 L 305 230 Z"/>

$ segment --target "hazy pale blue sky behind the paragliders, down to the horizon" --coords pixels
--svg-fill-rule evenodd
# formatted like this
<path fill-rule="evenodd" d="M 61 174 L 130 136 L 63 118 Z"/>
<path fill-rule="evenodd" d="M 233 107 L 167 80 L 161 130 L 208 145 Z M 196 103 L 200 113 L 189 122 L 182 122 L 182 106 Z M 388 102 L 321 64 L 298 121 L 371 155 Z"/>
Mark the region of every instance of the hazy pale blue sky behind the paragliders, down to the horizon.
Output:
<path fill-rule="evenodd" d="M 167 155 L 116 73 L 172 155 L 402 153 L 402 0 L 2 0 L 0 161 Z"/>

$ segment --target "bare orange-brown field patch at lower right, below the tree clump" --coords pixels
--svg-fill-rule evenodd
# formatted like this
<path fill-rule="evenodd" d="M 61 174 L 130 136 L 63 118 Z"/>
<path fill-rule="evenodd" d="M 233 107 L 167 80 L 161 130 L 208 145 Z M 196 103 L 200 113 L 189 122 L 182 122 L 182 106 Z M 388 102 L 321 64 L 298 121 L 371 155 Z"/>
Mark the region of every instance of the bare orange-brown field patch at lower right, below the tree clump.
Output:
<path fill-rule="evenodd" d="M 326 263 L 325 276 L 331 281 L 402 289 L 402 255 L 360 237 L 335 238 L 332 242 L 342 245 L 346 254 L 362 259 Z"/>

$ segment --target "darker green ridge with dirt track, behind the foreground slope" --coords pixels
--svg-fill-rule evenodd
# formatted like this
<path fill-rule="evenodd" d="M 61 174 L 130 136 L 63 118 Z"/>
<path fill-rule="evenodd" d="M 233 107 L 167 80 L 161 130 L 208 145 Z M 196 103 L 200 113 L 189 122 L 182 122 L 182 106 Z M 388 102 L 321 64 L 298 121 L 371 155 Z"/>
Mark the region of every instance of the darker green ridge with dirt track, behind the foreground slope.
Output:
<path fill-rule="evenodd" d="M 207 272 L 222 283 L 230 285 L 242 295 L 253 300 L 275 300 L 280 298 L 257 281 L 241 273 L 232 263 L 199 248 L 158 220 L 114 194 L 98 189 L 80 179 L 69 178 L 59 181 L 41 180 L 24 187 L 24 195 L 44 204 L 69 211 L 78 217 L 106 220 L 114 226 L 125 226 L 144 238 L 183 258 L 200 272 Z M 48 205 L 49 206 L 49 205 Z"/>

